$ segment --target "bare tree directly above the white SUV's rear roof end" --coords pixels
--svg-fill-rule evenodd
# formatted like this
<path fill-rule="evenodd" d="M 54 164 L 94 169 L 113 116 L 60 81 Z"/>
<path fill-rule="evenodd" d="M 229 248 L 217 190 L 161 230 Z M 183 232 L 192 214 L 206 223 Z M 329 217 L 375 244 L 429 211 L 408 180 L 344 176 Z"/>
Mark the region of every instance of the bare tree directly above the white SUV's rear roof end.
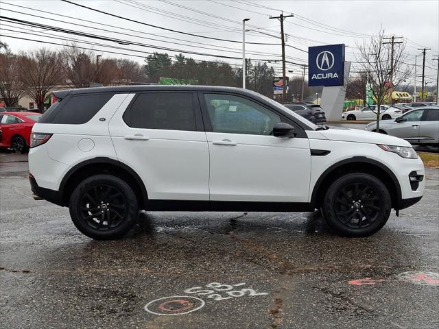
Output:
<path fill-rule="evenodd" d="M 66 82 L 72 88 L 87 88 L 97 75 L 95 53 L 77 47 L 64 47 L 61 51 Z"/>

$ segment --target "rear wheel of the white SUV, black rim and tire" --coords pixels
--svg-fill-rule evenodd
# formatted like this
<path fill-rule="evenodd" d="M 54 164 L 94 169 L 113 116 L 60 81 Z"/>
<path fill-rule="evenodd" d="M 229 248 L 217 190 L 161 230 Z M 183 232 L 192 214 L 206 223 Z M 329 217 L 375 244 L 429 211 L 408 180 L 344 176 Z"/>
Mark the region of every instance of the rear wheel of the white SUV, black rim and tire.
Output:
<path fill-rule="evenodd" d="M 86 178 L 75 188 L 69 203 L 73 224 L 96 240 L 126 234 L 137 222 L 138 207 L 132 188 L 113 175 Z"/>

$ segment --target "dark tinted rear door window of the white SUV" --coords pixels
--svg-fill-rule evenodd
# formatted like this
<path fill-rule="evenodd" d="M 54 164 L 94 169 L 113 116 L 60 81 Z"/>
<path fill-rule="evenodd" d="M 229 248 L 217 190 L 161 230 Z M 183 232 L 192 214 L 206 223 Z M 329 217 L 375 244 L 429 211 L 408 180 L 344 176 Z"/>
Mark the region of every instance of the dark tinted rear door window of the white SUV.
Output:
<path fill-rule="evenodd" d="M 191 93 L 142 93 L 123 114 L 132 128 L 195 131 Z"/>

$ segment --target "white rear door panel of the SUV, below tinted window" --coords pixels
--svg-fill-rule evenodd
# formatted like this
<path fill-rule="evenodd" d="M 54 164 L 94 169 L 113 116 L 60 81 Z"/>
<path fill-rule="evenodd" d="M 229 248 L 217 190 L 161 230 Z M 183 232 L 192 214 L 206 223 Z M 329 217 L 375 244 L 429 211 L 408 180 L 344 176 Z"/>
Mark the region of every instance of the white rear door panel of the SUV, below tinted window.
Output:
<path fill-rule="evenodd" d="M 134 94 L 132 94 L 134 97 Z M 117 159 L 143 180 L 150 199 L 209 200 L 209 148 L 205 132 L 128 127 L 122 119 L 130 101 L 108 127 Z M 141 135 L 144 141 L 126 139 Z"/>

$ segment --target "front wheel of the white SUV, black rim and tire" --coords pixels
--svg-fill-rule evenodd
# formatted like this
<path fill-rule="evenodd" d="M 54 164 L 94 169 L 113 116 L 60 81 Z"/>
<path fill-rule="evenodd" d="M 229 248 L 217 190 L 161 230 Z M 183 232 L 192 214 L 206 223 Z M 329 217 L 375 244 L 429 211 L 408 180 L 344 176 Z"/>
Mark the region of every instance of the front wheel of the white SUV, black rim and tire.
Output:
<path fill-rule="evenodd" d="M 337 234 L 368 236 L 381 230 L 388 221 L 390 193 L 372 175 L 349 173 L 329 186 L 322 210 L 329 226 Z"/>

